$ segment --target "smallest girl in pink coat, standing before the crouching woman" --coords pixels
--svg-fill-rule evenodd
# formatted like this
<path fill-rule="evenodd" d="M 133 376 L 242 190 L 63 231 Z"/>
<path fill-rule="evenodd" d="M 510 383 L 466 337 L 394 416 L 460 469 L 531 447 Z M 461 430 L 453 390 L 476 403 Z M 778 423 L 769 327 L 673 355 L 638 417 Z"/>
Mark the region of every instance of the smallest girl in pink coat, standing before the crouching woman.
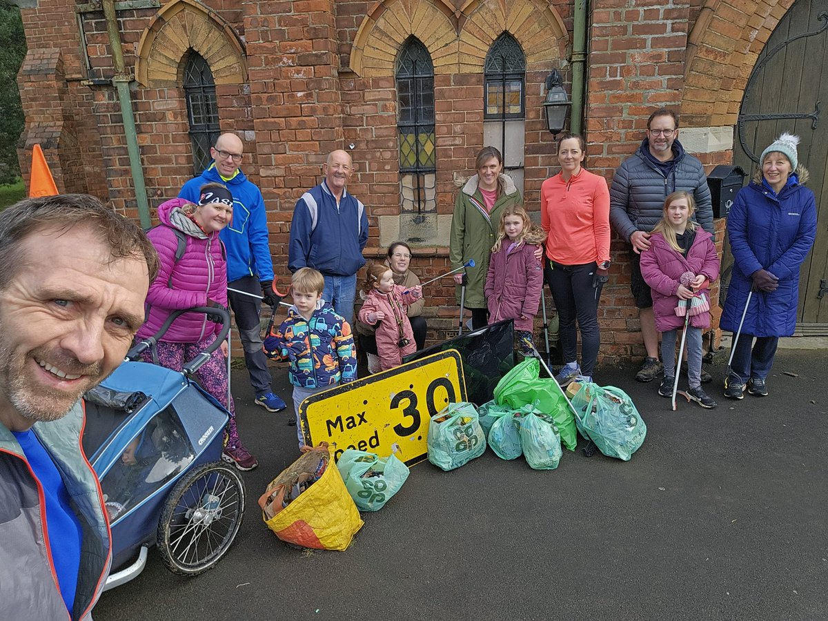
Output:
<path fill-rule="evenodd" d="M 397 285 L 390 267 L 374 263 L 365 275 L 363 293 L 366 298 L 359 309 L 359 320 L 377 327 L 379 366 L 383 371 L 398 367 L 403 356 L 416 351 L 406 309 L 421 298 L 422 287 L 406 289 Z"/>

